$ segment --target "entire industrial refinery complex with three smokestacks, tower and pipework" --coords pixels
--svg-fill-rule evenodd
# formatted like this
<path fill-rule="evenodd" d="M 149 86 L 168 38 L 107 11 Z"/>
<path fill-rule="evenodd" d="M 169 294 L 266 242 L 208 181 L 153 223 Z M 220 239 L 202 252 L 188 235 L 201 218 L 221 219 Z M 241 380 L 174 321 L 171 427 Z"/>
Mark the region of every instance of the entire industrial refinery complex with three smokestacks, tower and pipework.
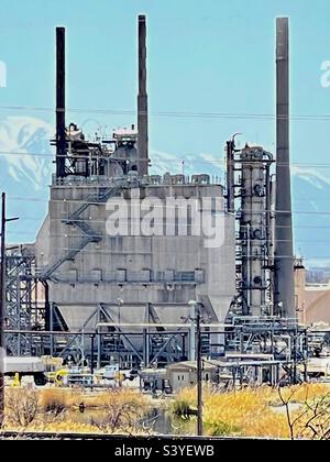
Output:
<path fill-rule="evenodd" d="M 34 243 L 6 244 L 2 195 L 4 373 L 45 385 L 57 361 L 67 373 L 55 382 L 79 382 L 80 371 L 81 384 L 106 386 L 103 371 L 165 394 L 207 381 L 326 381 L 330 362 L 310 364 L 327 358 L 330 328 L 302 319 L 305 270 L 294 253 L 288 18 L 276 19 L 270 62 L 276 148 L 239 147 L 242 136 L 228 133 L 224 180 L 151 173 L 145 15 L 138 16 L 138 120 L 92 139 L 66 111 L 70 33 L 56 28 L 54 173 Z"/>

